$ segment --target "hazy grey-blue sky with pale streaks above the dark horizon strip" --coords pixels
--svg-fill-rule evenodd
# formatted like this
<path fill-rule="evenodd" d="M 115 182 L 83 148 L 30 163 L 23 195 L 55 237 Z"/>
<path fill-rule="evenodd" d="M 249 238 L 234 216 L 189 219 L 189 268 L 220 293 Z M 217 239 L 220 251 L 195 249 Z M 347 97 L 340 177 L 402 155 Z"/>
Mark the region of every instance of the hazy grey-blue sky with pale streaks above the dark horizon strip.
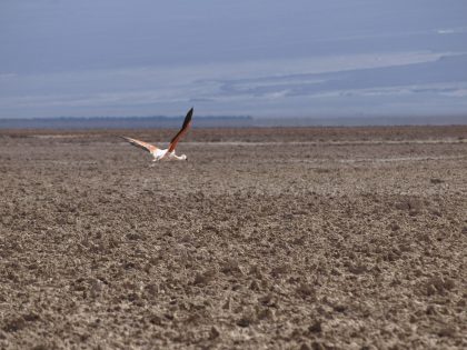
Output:
<path fill-rule="evenodd" d="M 0 0 L 0 118 L 467 114 L 465 0 Z"/>

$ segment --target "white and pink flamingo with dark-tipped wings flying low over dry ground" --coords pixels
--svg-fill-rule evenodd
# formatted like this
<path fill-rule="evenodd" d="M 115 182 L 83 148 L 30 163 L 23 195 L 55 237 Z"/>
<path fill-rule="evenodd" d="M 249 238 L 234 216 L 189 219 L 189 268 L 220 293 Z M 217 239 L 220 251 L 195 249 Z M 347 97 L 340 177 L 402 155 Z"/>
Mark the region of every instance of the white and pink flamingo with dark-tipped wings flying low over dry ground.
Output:
<path fill-rule="evenodd" d="M 191 108 L 187 117 L 185 117 L 183 124 L 181 126 L 181 129 L 177 132 L 177 134 L 172 138 L 170 141 L 169 148 L 167 149 L 160 149 L 151 143 L 140 141 L 137 139 L 131 139 L 127 137 L 122 137 L 125 140 L 130 142 L 132 146 L 139 147 L 143 149 L 145 151 L 148 151 L 153 157 L 152 161 L 159 161 L 159 160 L 188 160 L 186 154 L 177 156 L 175 153 L 175 149 L 177 147 L 178 141 L 180 141 L 180 138 L 187 132 L 188 128 L 191 123 L 191 116 L 193 114 L 193 109 Z"/>

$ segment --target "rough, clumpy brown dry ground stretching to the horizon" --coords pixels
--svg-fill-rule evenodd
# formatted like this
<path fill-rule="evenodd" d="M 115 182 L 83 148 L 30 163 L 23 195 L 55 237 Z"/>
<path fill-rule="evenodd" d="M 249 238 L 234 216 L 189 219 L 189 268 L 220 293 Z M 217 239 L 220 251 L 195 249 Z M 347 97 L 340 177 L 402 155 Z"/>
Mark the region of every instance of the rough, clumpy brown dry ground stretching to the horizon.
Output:
<path fill-rule="evenodd" d="M 466 137 L 3 130 L 0 348 L 465 349 Z"/>

